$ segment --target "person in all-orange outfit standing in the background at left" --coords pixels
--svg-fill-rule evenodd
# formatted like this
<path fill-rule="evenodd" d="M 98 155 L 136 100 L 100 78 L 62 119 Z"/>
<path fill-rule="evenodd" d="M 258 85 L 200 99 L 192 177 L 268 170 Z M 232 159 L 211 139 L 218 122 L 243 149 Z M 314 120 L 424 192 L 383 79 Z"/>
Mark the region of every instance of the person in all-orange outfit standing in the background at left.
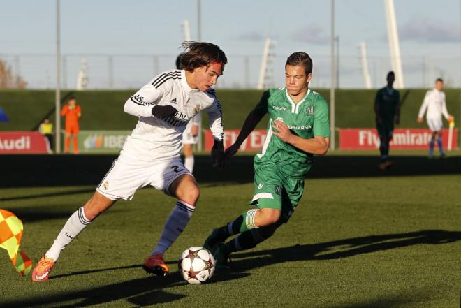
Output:
<path fill-rule="evenodd" d="M 71 145 L 71 136 L 73 139 L 73 154 L 78 154 L 78 120 L 82 117 L 82 108 L 77 105 L 74 96 L 69 98 L 68 103 L 61 109 L 61 117 L 66 117 L 66 143 L 64 144 L 64 153 L 69 152 L 69 145 Z M 59 136 L 57 136 L 59 138 Z"/>

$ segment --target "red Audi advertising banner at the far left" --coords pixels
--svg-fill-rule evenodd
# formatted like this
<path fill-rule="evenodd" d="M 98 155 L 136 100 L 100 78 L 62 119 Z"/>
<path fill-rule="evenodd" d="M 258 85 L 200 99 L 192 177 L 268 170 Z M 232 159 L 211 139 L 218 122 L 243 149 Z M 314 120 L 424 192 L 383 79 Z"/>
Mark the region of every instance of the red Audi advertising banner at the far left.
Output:
<path fill-rule="evenodd" d="M 0 131 L 0 154 L 46 154 L 45 137 L 38 131 Z"/>

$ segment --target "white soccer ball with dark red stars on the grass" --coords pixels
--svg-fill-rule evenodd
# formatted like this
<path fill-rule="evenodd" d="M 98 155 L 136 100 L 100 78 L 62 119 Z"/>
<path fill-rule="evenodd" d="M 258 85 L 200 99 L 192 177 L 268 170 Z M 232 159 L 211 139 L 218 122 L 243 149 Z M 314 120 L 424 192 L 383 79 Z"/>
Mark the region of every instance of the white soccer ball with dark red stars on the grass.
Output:
<path fill-rule="evenodd" d="M 181 277 L 189 284 L 203 284 L 213 276 L 215 265 L 210 251 L 194 246 L 184 250 L 177 266 Z"/>

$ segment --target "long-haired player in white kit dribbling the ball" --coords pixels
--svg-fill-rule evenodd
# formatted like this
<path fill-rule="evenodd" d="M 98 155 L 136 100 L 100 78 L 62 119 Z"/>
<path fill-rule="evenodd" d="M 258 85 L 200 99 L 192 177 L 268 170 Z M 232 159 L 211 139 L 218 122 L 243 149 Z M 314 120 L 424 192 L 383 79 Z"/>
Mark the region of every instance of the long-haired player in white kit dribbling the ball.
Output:
<path fill-rule="evenodd" d="M 136 190 L 151 185 L 177 198 L 165 227 L 144 269 L 163 276 L 170 271 L 163 253 L 186 228 L 200 191 L 180 159 L 182 133 L 191 118 L 202 110 L 210 117 L 214 138 L 213 165 L 224 165 L 221 106 L 211 88 L 222 75 L 226 55 L 212 43 L 184 42 L 184 70 L 157 75 L 129 98 L 124 111 L 139 117 L 138 124 L 115 159 L 96 192 L 68 219 L 52 247 L 38 261 L 32 280 L 45 281 L 59 254 L 99 214 L 117 200 L 131 200 Z"/>

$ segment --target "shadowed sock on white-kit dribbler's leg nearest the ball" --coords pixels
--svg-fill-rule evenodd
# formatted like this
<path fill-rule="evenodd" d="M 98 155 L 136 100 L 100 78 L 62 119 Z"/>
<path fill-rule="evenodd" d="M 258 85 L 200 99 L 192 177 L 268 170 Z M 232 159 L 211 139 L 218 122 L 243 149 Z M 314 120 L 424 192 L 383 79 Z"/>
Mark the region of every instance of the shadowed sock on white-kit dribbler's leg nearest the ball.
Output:
<path fill-rule="evenodd" d="M 157 246 L 152 251 L 152 254 L 163 254 L 168 247 L 175 242 L 178 236 L 186 228 L 187 223 L 191 220 L 193 211 L 196 209 L 193 205 L 189 205 L 184 201 L 177 201 L 176 206 L 166 219 L 163 233 Z M 151 254 L 151 255 L 152 255 Z"/>

